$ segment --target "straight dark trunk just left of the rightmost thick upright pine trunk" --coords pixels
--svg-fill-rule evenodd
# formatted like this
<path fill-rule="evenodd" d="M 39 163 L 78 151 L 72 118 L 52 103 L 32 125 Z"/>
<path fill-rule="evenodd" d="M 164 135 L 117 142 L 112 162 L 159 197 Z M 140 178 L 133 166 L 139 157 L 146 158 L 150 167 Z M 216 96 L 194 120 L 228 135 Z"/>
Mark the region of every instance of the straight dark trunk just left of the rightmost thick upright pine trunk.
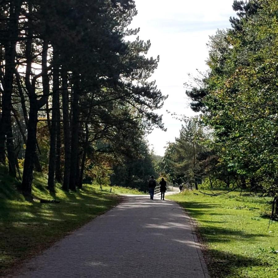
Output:
<path fill-rule="evenodd" d="M 63 108 L 63 131 L 64 131 L 64 178 L 63 189 L 69 190 L 70 183 L 70 118 L 69 118 L 69 95 L 68 95 L 68 78 L 67 70 L 62 66 L 62 108 Z"/>

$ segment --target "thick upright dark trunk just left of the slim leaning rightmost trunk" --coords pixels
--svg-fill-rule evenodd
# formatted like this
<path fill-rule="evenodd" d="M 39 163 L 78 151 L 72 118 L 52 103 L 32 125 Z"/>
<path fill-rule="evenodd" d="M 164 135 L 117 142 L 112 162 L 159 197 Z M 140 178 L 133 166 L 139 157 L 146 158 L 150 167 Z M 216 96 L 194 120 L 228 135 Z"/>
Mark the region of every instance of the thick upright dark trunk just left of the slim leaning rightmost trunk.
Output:
<path fill-rule="evenodd" d="M 76 190 L 76 162 L 78 160 L 78 120 L 79 120 L 79 75 L 74 74 L 74 90 L 72 101 L 72 124 L 71 124 L 71 154 L 70 154 L 70 190 Z"/>

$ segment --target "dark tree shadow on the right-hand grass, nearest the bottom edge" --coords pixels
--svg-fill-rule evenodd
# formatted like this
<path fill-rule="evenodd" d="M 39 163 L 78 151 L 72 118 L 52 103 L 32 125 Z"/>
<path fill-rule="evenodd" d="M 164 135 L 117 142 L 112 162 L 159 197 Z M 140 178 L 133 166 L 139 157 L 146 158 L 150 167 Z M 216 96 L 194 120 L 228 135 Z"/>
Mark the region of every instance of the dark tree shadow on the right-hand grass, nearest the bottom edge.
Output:
<path fill-rule="evenodd" d="M 233 277 L 242 275 L 242 267 L 266 267 L 268 264 L 257 258 L 251 258 L 230 252 L 208 250 L 205 253 L 208 271 L 211 277 L 223 278 L 232 274 Z"/>

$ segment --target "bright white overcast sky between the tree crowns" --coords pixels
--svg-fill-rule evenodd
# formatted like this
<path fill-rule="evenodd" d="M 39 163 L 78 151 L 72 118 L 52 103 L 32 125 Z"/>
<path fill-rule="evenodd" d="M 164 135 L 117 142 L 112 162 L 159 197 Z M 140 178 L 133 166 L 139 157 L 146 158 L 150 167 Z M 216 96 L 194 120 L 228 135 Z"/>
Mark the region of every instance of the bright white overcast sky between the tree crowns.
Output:
<path fill-rule="evenodd" d="M 229 18 L 235 16 L 233 0 L 135 0 L 135 3 L 138 15 L 131 27 L 140 27 L 140 39 L 151 41 L 148 56 L 160 56 L 152 79 L 163 95 L 169 95 L 163 108 L 156 111 L 163 115 L 167 132 L 155 128 L 148 135 L 150 148 L 164 155 L 164 147 L 179 136 L 182 124 L 166 110 L 194 115 L 183 84 L 190 80 L 188 73 L 197 75 L 196 69 L 207 70 L 208 36 L 217 29 L 230 27 Z"/>

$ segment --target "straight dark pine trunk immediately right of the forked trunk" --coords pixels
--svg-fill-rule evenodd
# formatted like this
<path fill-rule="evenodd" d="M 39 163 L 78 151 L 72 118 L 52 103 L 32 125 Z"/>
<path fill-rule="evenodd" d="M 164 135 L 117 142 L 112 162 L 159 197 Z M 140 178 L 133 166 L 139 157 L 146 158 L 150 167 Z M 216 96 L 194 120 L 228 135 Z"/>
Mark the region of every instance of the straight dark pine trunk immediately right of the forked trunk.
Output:
<path fill-rule="evenodd" d="M 54 175 L 56 162 L 57 121 L 59 109 L 59 53 L 53 47 L 53 89 L 52 89 L 52 119 L 50 129 L 50 151 L 48 165 L 48 189 L 54 191 Z"/>

